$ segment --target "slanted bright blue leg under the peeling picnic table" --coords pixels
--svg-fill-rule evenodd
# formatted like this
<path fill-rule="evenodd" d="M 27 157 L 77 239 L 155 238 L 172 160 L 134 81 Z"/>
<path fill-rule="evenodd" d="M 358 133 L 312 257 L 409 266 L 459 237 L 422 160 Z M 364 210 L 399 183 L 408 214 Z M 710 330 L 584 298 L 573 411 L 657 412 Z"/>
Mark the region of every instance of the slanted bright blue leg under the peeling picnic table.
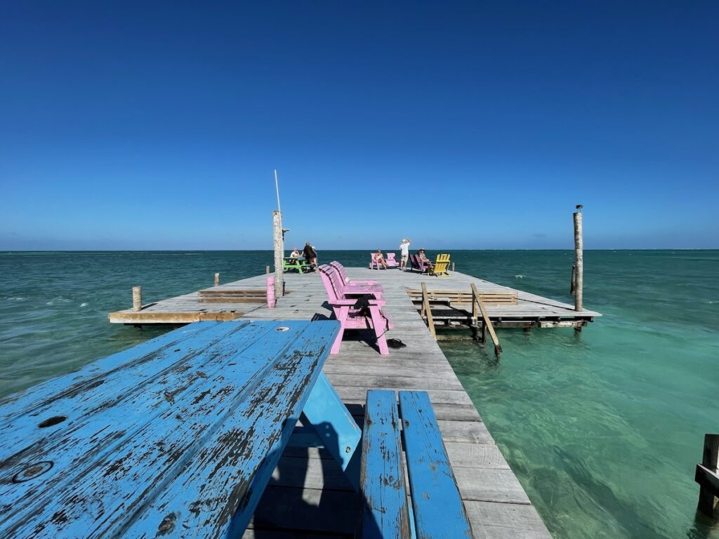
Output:
<path fill-rule="evenodd" d="M 319 375 L 302 412 L 316 430 L 322 445 L 342 466 L 352 487 L 359 492 L 362 451 L 357 448 L 362 440 L 362 429 L 354 422 L 324 372 Z"/>

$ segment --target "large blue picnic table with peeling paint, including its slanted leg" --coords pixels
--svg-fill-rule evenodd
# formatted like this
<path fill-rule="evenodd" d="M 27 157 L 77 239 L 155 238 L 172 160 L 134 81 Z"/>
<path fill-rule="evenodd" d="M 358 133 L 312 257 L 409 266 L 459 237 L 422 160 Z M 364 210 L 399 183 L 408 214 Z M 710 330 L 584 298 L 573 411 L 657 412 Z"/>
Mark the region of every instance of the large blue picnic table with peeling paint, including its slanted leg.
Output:
<path fill-rule="evenodd" d="M 197 322 L 1 400 L 0 537 L 241 537 L 301 414 L 358 486 L 338 331 Z"/>

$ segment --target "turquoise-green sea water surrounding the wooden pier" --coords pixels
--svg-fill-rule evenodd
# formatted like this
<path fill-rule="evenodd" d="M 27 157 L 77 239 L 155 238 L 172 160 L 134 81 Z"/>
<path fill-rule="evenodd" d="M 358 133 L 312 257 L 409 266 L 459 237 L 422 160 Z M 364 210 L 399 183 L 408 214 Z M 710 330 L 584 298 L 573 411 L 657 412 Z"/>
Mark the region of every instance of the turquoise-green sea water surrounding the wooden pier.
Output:
<path fill-rule="evenodd" d="M 392 249 L 390 249 L 392 250 Z M 432 254 L 432 253 L 431 253 Z M 365 265 L 367 252 L 320 252 Z M 572 303 L 572 252 L 457 251 L 457 270 Z M 166 329 L 111 325 L 131 287 L 159 300 L 264 272 L 271 252 L 0 253 L 0 396 Z M 557 539 L 719 538 L 695 520 L 694 466 L 719 430 L 719 251 L 587 251 L 571 329 L 442 341 Z"/>

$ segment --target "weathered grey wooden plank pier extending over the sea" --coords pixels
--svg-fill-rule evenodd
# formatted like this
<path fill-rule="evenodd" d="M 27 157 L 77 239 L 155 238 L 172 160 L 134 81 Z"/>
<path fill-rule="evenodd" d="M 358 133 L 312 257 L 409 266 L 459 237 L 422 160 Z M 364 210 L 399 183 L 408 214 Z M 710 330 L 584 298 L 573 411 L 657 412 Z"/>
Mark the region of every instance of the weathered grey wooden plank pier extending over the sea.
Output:
<path fill-rule="evenodd" d="M 466 290 L 472 285 L 487 293 L 515 292 L 516 305 L 487 305 L 495 327 L 581 327 L 600 316 L 577 312 L 573 305 L 513 290 L 469 275 L 452 272 L 438 279 L 399 270 L 347 268 L 352 280 L 378 280 L 387 300 L 385 312 L 394 328 L 388 338 L 399 338 L 406 348 L 390 356 L 378 353 L 357 332 L 345 340 L 336 356 L 329 356 L 324 372 L 359 424 L 364 418 L 367 390 L 423 390 L 429 392 L 442 438 L 449 454 L 464 507 L 477 538 L 549 538 L 538 513 L 500 453 L 469 395 L 454 374 L 426 318 L 418 312 L 408 290 Z M 264 290 L 266 276 L 240 280 L 216 289 Z M 285 274 L 285 288 L 276 308 L 258 303 L 201 302 L 198 292 L 146 305 L 139 311 L 109 315 L 114 323 L 134 325 L 185 323 L 195 320 L 322 320 L 331 316 L 319 275 Z M 221 297 L 222 294 L 219 294 Z M 441 294 L 439 295 L 441 296 Z M 432 306 L 434 323 L 448 325 L 467 318 L 462 307 Z M 444 311 L 444 316 L 443 316 Z M 471 311 L 471 308 L 469 309 Z M 354 534 L 359 494 L 342 469 L 323 449 L 287 448 L 265 490 L 246 538 L 349 537 Z"/>

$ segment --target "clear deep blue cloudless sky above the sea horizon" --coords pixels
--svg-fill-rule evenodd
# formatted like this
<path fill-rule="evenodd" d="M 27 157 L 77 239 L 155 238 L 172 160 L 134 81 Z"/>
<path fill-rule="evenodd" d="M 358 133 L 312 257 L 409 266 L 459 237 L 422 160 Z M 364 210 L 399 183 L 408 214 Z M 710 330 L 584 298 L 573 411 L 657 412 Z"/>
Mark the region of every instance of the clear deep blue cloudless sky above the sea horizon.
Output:
<path fill-rule="evenodd" d="M 2 11 L 0 249 L 719 247 L 716 1 Z"/>

